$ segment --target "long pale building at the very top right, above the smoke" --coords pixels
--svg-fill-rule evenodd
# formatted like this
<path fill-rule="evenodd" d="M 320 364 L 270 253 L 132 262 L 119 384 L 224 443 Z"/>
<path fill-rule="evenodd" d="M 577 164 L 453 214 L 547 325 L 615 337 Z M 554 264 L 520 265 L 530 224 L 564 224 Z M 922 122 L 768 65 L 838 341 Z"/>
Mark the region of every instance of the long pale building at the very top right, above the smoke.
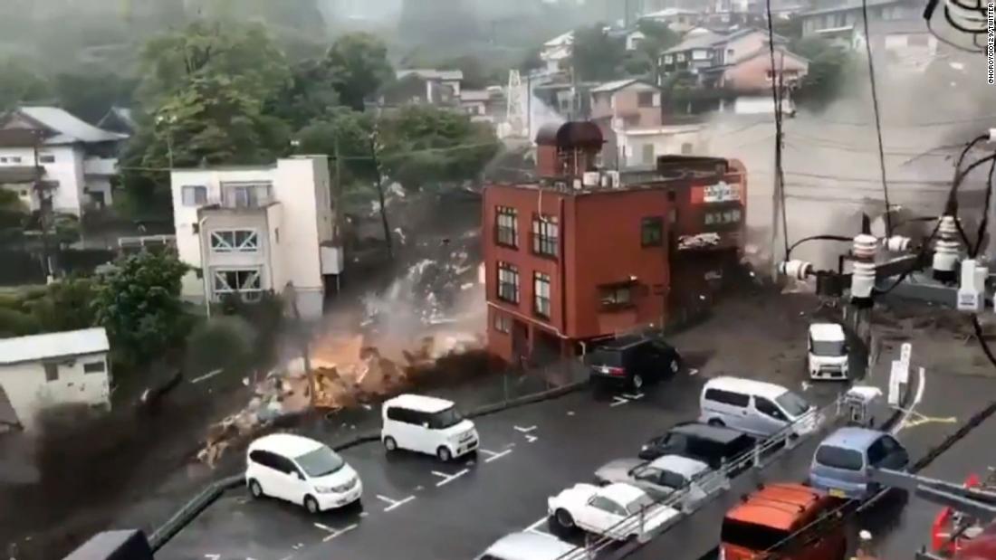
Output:
<path fill-rule="evenodd" d="M 869 27 L 877 22 L 915 20 L 923 6 L 912 0 L 867 0 Z M 833 6 L 818 8 L 800 14 L 803 37 L 821 36 L 840 39 L 853 45 L 856 30 L 864 28 L 863 5 L 860 0 L 847 0 Z M 924 28 L 924 32 L 926 29 Z"/>

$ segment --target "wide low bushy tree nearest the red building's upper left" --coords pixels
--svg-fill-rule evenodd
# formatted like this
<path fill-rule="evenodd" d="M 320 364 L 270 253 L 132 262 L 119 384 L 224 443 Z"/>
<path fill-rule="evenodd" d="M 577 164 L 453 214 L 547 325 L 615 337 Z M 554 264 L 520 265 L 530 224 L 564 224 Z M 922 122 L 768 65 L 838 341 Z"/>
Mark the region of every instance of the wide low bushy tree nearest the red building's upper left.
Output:
<path fill-rule="evenodd" d="M 490 126 L 431 105 L 406 105 L 380 129 L 386 174 L 409 190 L 478 177 L 501 146 Z"/>

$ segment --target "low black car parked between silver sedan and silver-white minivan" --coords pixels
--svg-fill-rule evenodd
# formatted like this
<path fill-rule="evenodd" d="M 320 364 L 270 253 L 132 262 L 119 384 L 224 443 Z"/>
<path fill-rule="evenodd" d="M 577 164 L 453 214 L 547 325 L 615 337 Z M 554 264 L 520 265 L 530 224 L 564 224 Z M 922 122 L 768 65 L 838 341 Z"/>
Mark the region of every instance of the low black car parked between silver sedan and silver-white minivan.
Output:
<path fill-rule="evenodd" d="M 753 447 L 754 438 L 730 428 L 684 422 L 667 434 L 653 438 L 639 450 L 639 458 L 654 460 L 666 455 L 680 455 L 719 468 L 742 458 Z M 745 465 L 744 467 L 749 467 Z M 731 472 L 735 475 L 739 470 Z"/>

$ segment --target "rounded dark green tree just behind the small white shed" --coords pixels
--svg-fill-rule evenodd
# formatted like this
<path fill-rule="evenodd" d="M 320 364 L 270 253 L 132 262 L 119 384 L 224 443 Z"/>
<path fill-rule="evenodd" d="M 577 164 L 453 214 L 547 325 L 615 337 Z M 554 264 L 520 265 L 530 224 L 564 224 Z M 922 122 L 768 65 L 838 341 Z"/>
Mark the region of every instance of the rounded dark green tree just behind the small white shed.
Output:
<path fill-rule="evenodd" d="M 97 322 L 108 329 L 117 358 L 147 363 L 183 339 L 188 320 L 179 296 L 186 271 L 172 254 L 143 252 L 119 260 L 101 280 Z"/>

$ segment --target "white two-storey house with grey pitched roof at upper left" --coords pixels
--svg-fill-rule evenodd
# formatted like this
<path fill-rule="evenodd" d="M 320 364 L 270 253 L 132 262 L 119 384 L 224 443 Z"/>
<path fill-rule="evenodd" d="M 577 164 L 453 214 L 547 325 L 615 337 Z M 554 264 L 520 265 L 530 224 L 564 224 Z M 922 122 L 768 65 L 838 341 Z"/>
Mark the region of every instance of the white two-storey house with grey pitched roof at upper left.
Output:
<path fill-rule="evenodd" d="M 0 117 L 0 186 L 17 192 L 32 210 L 48 197 L 54 211 L 76 216 L 110 205 L 126 138 L 58 107 L 20 107 Z M 44 195 L 32 188 L 36 182 Z"/>

